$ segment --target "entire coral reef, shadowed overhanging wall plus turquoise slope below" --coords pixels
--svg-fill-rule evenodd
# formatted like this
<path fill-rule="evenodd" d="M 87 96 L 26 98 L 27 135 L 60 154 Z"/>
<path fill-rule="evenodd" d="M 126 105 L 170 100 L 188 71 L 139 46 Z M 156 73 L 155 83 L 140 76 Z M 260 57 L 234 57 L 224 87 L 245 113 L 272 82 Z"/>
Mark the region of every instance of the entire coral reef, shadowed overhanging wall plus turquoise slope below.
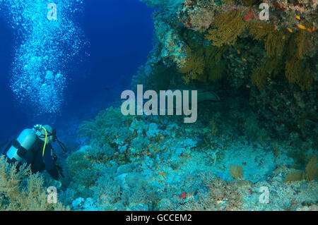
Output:
<path fill-rule="evenodd" d="M 145 0 L 153 50 L 131 89 L 198 90 L 196 123 L 124 116 L 79 131 L 60 198 L 75 210 L 317 207 L 315 1 Z M 293 185 L 290 185 L 293 182 Z M 260 188 L 270 202 L 259 202 Z M 307 208 L 306 208 L 307 209 Z"/>

